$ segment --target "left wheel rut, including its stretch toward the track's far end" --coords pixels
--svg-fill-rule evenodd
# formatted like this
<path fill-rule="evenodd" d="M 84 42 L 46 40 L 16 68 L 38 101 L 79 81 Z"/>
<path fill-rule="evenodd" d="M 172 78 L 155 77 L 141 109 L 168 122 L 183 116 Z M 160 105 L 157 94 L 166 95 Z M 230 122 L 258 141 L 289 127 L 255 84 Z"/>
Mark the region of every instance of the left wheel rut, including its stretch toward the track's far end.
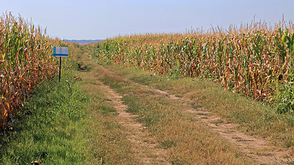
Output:
<path fill-rule="evenodd" d="M 88 54 L 82 54 L 81 65 L 87 66 L 82 72 L 87 74 L 88 81 L 92 82 L 92 85 L 97 85 L 98 87 L 93 87 L 92 90 L 103 90 L 105 94 L 106 101 L 109 105 L 112 105 L 118 115 L 114 115 L 116 122 L 125 130 L 127 139 L 130 142 L 132 153 L 136 158 L 138 164 L 170 164 L 169 155 L 166 149 L 162 149 L 158 146 L 158 142 L 151 136 L 151 133 L 146 129 L 143 124 L 136 121 L 138 115 L 127 112 L 127 105 L 123 103 L 123 96 L 117 94 L 112 88 L 104 85 L 100 81 L 100 76 L 97 74 L 98 65 L 91 60 L 92 56 L 87 56 Z M 114 76 L 115 74 L 107 70 L 108 76 Z M 123 77 L 121 77 L 123 78 Z M 124 78 L 124 80 L 127 80 Z M 95 92 L 95 91 L 92 91 Z"/>

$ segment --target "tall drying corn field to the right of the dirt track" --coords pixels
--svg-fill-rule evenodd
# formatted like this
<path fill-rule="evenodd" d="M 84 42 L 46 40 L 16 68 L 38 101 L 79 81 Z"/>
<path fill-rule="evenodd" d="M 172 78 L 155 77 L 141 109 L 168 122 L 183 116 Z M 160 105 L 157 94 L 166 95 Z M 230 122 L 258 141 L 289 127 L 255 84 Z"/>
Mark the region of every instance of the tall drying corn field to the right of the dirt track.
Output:
<path fill-rule="evenodd" d="M 187 34 L 118 36 L 96 46 L 106 63 L 158 74 L 209 78 L 226 89 L 294 111 L 294 25 L 282 21 Z"/>

